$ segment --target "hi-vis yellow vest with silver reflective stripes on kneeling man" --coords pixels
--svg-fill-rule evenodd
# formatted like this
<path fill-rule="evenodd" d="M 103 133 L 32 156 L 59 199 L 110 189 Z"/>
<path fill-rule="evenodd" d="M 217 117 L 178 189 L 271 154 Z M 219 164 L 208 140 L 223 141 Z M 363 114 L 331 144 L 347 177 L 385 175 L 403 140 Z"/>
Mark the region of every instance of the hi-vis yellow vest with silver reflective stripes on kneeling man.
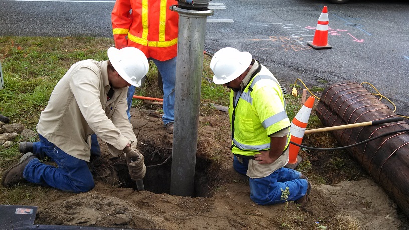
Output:
<path fill-rule="evenodd" d="M 234 91 L 230 92 L 231 150 L 236 155 L 252 157 L 270 149 L 269 135 L 291 127 L 280 84 L 266 67 L 260 66 L 260 72 L 254 74 L 241 94 L 239 91 L 235 97 Z M 289 144 L 290 134 L 283 152 Z"/>

